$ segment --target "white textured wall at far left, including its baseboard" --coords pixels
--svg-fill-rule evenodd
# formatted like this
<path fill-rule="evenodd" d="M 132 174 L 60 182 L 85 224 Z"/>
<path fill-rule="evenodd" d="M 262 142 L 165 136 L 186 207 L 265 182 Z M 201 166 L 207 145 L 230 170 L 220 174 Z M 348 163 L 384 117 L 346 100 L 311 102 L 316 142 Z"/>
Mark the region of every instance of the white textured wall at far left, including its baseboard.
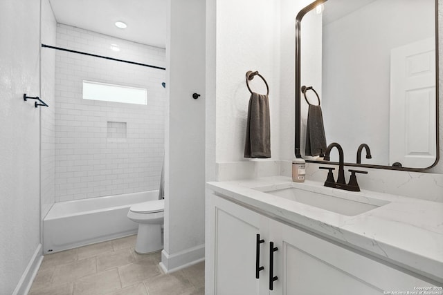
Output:
<path fill-rule="evenodd" d="M 23 294 L 41 256 L 40 109 L 23 99 L 40 94 L 39 17 L 39 1 L 0 2 L 0 294 Z"/>

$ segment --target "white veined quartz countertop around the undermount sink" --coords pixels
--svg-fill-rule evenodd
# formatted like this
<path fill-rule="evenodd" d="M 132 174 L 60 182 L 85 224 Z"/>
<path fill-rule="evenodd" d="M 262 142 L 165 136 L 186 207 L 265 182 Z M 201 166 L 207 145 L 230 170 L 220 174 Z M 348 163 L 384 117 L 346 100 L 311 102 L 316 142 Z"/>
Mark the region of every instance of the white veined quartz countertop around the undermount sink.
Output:
<path fill-rule="evenodd" d="M 286 187 L 338 198 L 368 197 L 372 202 L 389 203 L 356 216 L 345 216 L 263 192 Z M 208 182 L 207 188 L 273 218 L 443 283 L 443 203 L 364 189 L 343 191 L 309 180 L 292 182 L 284 176 Z"/>

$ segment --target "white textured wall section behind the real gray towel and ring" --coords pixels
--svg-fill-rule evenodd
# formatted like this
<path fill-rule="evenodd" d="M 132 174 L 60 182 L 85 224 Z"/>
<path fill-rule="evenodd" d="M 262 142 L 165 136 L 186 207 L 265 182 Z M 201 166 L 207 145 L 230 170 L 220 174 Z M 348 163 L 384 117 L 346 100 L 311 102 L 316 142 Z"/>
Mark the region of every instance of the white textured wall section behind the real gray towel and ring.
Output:
<path fill-rule="evenodd" d="M 251 93 L 246 72 L 258 70 L 269 84 L 271 156 L 279 158 L 280 38 L 279 1 L 223 0 L 216 3 L 216 157 L 217 162 L 246 161 L 244 142 Z M 266 93 L 260 77 L 251 88 Z"/>

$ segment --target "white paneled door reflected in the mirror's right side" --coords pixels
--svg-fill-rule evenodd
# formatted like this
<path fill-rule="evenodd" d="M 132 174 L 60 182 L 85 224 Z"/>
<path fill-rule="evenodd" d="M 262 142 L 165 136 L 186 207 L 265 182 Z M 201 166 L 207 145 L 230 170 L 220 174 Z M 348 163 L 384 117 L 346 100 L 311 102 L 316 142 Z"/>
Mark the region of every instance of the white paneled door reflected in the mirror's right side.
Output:
<path fill-rule="evenodd" d="M 389 164 L 435 162 L 435 39 L 391 50 Z"/>

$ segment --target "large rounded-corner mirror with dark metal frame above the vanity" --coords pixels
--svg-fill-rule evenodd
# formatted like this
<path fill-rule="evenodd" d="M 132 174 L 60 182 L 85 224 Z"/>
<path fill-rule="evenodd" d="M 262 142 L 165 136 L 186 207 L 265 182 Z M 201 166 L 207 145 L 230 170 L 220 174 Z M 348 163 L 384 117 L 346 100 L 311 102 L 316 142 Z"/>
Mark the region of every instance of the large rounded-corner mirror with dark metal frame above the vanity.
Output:
<path fill-rule="evenodd" d="M 437 1 L 318 0 L 296 19 L 296 157 L 305 155 L 302 86 L 320 97 L 326 143 L 345 163 L 428 169 L 438 160 Z M 317 104 L 307 91 L 307 101 Z M 361 153 L 368 144 L 371 159 Z M 336 150 L 335 150 L 336 151 Z M 331 161 L 338 162 L 338 153 Z"/>

